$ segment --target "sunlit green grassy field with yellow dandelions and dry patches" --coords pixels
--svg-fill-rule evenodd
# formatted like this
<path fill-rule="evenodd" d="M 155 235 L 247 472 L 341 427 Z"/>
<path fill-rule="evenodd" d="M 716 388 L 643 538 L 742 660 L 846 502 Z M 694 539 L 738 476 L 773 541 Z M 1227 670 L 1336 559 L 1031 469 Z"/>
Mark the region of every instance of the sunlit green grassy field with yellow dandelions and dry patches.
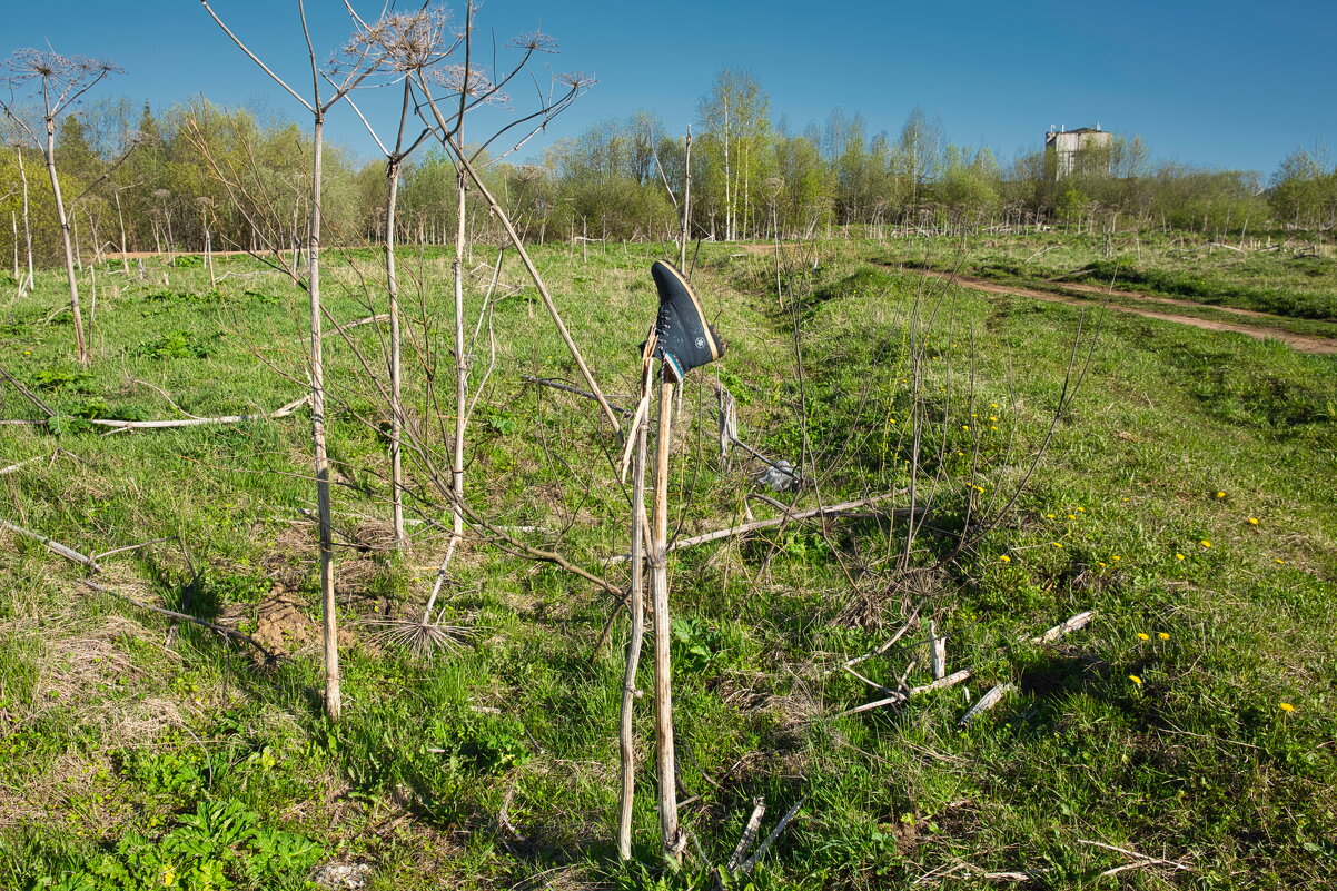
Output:
<path fill-rule="evenodd" d="M 217 290 L 197 268 L 152 262 L 147 281 L 103 273 L 86 371 L 56 312 L 62 280 L 43 274 L 35 294 L 5 298 L 0 364 L 56 420 L 0 427 L 0 466 L 40 458 L 0 476 L 0 518 L 86 554 L 170 539 L 104 558 L 94 581 L 285 656 L 265 664 L 174 625 L 0 532 L 0 887 L 302 888 L 332 863 L 366 864 L 368 887 L 385 891 L 1332 887 L 1337 359 L 885 266 L 1009 262 L 1034 278 L 1092 262 L 1096 242 L 1050 241 L 971 243 L 955 257 L 945 243 L 796 248 L 782 252 L 783 301 L 774 258 L 701 249 L 694 280 L 729 352 L 683 395 L 674 531 L 739 523 L 749 500 L 758 519 L 777 515 L 749 499 L 763 466 L 719 458 L 718 384 L 738 400 L 742 440 L 805 470 L 809 484 L 777 498 L 801 508 L 897 492 L 884 506 L 904 507 L 913 471 L 931 512 L 908 549 L 906 524 L 874 511 L 675 554 L 678 797 L 691 833 L 678 874 L 656 858 L 647 701 L 636 862 L 615 862 L 627 627 L 608 595 L 471 538 L 444 614 L 477 629 L 468 642 L 424 661 L 366 622 L 421 611 L 449 524 L 410 462 L 413 547 L 386 550 L 386 412 L 368 377 L 381 326 L 349 332 L 368 367 L 338 334 L 326 341 L 348 629 L 345 717 L 332 725 L 303 514 L 309 413 L 134 433 L 87 424 L 297 399 L 305 296 L 245 258 L 219 265 L 235 274 Z M 662 257 L 646 245 L 588 258 L 537 250 L 620 404 L 634 401 L 655 306 L 648 265 Z M 333 318 L 381 312 L 362 284 L 374 258 L 330 256 Z M 1333 316 L 1330 276 L 1280 254 L 1246 260 L 1203 252 L 1191 273 L 1175 269 L 1231 282 L 1229 305 L 1306 324 Z M 451 411 L 422 381 L 427 369 L 453 375 L 449 265 L 435 249 L 402 262 L 420 345 L 409 385 L 429 431 L 422 454 L 440 462 Z M 1143 262 L 1144 276 L 1167 269 Z M 513 258 L 501 278 L 517 289 L 495 302 L 471 504 L 624 583 L 626 566 L 604 563 L 628 539 L 618 444 L 594 403 L 524 380 L 580 385 Z M 480 305 L 471 289 L 471 326 Z M 1060 407 L 1075 340 L 1084 375 Z M 0 392 L 5 417 L 40 416 Z M 906 463 L 916 415 L 917 467 Z M 1084 610 L 1095 610 L 1084 629 L 1031 642 Z M 932 680 L 931 621 L 947 670 L 971 678 L 842 716 L 885 693 L 841 666 L 905 625 L 857 670 L 888 688 Z M 959 725 L 1007 684 L 996 708 Z M 759 796 L 763 833 L 801 807 L 750 876 L 717 875 Z"/>

